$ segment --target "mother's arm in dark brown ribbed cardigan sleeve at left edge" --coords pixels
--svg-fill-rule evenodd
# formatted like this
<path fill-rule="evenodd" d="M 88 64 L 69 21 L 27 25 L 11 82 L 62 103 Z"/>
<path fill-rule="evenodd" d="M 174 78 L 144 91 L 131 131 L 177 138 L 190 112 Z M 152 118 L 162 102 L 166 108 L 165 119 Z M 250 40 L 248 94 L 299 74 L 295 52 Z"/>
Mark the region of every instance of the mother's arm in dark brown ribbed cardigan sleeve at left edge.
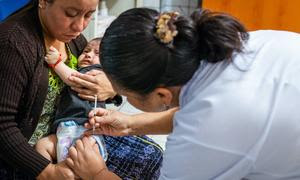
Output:
<path fill-rule="evenodd" d="M 4 34 L 4 33 L 3 33 Z M 1 35 L 3 35 L 1 34 Z M 24 123 L 21 118 L 28 111 L 24 100 L 28 94 L 24 94 L 29 83 L 30 70 L 34 70 L 33 61 L 26 59 L 32 52 L 30 46 L 18 48 L 11 41 L 0 35 L 0 157 L 13 168 L 18 168 L 32 177 L 36 177 L 50 161 L 40 155 L 28 144 L 28 139 L 23 133 L 30 131 L 31 122 Z M 21 50 L 22 51 L 21 51 Z M 19 51 L 20 50 L 20 51 Z M 32 57 L 36 58 L 36 53 Z M 24 109 L 25 108 L 25 109 Z M 20 129 L 23 128 L 23 129 Z"/>

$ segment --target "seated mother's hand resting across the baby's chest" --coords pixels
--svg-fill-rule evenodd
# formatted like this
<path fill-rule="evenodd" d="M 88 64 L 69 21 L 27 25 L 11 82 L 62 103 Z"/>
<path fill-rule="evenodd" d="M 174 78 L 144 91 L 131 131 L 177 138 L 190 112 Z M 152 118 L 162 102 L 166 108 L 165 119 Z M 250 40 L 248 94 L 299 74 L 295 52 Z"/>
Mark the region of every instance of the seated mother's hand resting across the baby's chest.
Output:
<path fill-rule="evenodd" d="M 116 95 L 103 71 L 91 70 L 86 74 L 73 73 L 69 80 L 76 84 L 72 89 L 78 92 L 78 96 L 89 101 L 93 101 L 95 95 L 99 101 L 105 101 Z"/>

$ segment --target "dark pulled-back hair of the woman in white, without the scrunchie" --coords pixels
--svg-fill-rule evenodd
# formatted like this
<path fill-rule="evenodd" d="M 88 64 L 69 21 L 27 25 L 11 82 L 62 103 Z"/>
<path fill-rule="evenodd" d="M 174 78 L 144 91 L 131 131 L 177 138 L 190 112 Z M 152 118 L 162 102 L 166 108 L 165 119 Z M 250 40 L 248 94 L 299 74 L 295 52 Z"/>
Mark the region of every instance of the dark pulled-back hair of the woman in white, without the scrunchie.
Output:
<path fill-rule="evenodd" d="M 141 95 L 159 86 L 184 85 L 201 60 L 230 60 L 248 39 L 233 17 L 197 10 L 174 21 L 178 34 L 170 45 L 155 36 L 158 17 L 155 10 L 130 9 L 112 22 L 101 41 L 105 73 L 120 87 Z"/>

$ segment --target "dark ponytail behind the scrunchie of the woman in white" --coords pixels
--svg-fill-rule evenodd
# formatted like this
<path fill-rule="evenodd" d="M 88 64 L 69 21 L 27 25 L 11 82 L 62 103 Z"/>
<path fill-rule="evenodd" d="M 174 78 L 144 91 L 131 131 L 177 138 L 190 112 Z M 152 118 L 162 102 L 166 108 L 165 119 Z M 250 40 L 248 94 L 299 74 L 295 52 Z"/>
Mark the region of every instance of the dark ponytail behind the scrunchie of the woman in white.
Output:
<path fill-rule="evenodd" d="M 191 18 L 198 33 L 200 59 L 218 62 L 231 59 L 232 53 L 242 52 L 248 40 L 246 28 L 234 17 L 209 10 L 196 10 Z"/>

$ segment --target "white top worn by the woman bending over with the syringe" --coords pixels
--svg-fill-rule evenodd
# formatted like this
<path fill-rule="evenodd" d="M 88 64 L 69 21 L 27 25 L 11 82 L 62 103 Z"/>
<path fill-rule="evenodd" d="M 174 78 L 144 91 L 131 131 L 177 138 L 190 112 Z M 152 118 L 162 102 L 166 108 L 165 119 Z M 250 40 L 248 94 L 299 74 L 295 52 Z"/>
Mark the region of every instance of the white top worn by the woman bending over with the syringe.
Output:
<path fill-rule="evenodd" d="M 182 88 L 161 180 L 300 179 L 300 35 L 250 32 Z"/>

